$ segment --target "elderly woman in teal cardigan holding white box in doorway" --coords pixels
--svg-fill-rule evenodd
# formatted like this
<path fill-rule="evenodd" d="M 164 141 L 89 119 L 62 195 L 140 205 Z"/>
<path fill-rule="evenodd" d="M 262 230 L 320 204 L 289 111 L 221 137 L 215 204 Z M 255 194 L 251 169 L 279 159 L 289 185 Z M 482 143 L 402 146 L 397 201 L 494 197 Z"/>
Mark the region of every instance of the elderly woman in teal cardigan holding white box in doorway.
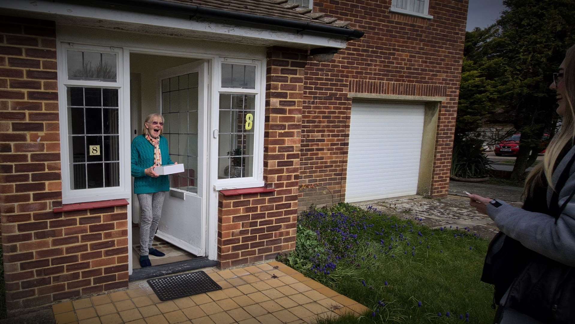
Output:
<path fill-rule="evenodd" d="M 178 164 L 170 159 L 168 141 L 162 136 L 164 117 L 158 113 L 148 115 L 142 135 L 132 140 L 132 177 L 134 193 L 140 202 L 140 266 L 151 266 L 150 257 L 166 254 L 152 248 L 154 235 L 162 215 L 164 191 L 170 191 L 168 176 L 155 173 L 156 166 Z"/>

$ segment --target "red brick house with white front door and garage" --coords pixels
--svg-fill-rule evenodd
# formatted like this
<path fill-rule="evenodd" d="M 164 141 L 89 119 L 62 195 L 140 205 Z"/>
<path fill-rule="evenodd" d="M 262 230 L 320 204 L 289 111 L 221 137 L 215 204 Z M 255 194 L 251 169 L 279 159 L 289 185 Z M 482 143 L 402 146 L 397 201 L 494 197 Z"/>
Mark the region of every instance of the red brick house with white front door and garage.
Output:
<path fill-rule="evenodd" d="M 467 0 L 89 3 L 0 3 L 9 310 L 271 260 L 312 203 L 447 194 Z M 138 269 L 130 143 L 153 112 L 185 171 L 172 261 Z"/>

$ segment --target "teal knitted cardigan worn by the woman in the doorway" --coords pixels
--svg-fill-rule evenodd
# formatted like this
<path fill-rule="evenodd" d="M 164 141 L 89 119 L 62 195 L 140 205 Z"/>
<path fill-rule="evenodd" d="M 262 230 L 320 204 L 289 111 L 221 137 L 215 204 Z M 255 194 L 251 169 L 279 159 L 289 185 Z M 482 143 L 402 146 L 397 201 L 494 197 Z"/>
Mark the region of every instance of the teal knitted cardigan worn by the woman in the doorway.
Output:
<path fill-rule="evenodd" d="M 160 152 L 162 165 L 174 164 L 170 159 L 168 140 L 160 135 Z M 145 139 L 144 135 L 132 140 L 132 177 L 134 177 L 134 193 L 152 193 L 170 191 L 170 178 L 168 176 L 150 177 L 145 169 L 154 165 L 154 145 Z"/>

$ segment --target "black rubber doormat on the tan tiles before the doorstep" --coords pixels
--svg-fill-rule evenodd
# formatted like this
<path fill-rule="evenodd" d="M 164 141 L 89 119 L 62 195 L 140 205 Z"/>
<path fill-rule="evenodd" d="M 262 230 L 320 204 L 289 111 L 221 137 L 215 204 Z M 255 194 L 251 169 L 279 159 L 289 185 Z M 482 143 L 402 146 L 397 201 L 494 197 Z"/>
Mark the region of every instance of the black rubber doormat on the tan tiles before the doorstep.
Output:
<path fill-rule="evenodd" d="M 221 289 L 220 285 L 203 271 L 150 279 L 148 284 L 162 302 Z"/>

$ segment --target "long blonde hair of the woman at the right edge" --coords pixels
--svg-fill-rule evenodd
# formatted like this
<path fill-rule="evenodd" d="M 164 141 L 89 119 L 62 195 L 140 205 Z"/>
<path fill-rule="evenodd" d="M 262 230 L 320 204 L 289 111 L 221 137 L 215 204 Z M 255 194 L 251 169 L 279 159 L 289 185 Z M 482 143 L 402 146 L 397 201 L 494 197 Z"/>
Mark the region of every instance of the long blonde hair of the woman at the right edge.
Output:
<path fill-rule="evenodd" d="M 557 159 L 563 148 L 575 139 L 575 111 L 573 110 L 573 103 L 575 102 L 575 45 L 570 47 L 565 54 L 563 82 L 565 82 L 567 95 L 564 96 L 563 99 L 565 99 L 567 106 L 563 114 L 561 129 L 559 129 L 557 134 L 551 139 L 549 146 L 547 146 L 543 163 L 535 166 L 527 176 L 524 192 L 526 197 L 531 196 L 535 184 L 543 180 L 542 173 L 545 174 L 547 184 L 549 184 L 550 188 L 554 188 L 551 177 L 553 176 L 555 163 L 558 162 Z"/>

